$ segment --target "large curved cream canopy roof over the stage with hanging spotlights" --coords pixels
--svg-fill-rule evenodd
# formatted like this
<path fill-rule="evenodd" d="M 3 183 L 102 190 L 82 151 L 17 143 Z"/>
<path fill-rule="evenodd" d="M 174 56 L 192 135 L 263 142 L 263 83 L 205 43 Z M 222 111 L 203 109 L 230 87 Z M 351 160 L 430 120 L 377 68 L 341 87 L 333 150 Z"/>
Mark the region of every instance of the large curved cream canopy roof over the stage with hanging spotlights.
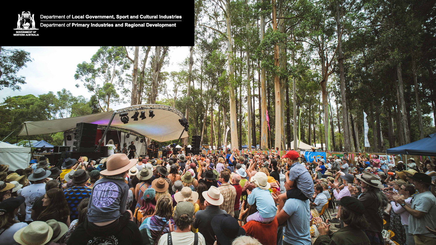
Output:
<path fill-rule="evenodd" d="M 149 110 L 153 110 L 155 115 L 153 118 L 149 117 Z M 138 111 L 145 111 L 146 118 L 141 119 L 138 116 L 138 121 L 133 121 L 133 114 Z M 124 124 L 121 121 L 120 113 L 127 112 L 129 116 L 129 122 Z M 179 119 L 184 115 L 174 107 L 160 105 L 160 104 L 141 104 L 129 106 L 116 111 L 108 111 L 97 114 L 68 117 L 61 119 L 53 119 L 47 121 L 35 121 L 25 122 L 24 127 L 18 133 L 18 136 L 34 135 L 34 134 L 49 134 L 56 132 L 64 132 L 76 128 L 77 123 L 92 123 L 101 126 L 107 126 L 115 113 L 115 117 L 110 124 L 111 127 L 117 127 L 132 131 L 137 134 L 141 134 L 147 138 L 151 138 L 155 141 L 171 141 L 177 140 L 184 130 L 181 126 Z M 27 128 L 27 130 L 26 130 Z M 184 131 L 182 138 L 188 137 L 187 131 Z"/>

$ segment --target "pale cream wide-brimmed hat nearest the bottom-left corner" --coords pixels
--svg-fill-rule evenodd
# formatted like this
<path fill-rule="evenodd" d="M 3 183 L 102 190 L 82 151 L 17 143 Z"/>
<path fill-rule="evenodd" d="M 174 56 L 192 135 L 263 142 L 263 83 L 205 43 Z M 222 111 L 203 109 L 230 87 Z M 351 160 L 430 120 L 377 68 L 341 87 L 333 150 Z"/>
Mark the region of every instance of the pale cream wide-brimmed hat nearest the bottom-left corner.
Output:
<path fill-rule="evenodd" d="M 53 237 L 53 229 L 43 221 L 31 222 L 14 234 L 15 242 L 21 245 L 44 245 Z"/>

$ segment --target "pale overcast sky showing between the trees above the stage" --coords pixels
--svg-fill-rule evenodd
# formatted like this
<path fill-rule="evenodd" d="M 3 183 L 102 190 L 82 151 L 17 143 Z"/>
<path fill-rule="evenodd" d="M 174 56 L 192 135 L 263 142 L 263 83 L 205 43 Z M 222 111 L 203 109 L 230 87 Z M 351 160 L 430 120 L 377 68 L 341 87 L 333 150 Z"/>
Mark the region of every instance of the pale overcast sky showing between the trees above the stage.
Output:
<path fill-rule="evenodd" d="M 11 47 L 5 46 L 4 48 L 9 49 Z M 26 50 L 30 53 L 33 61 L 28 62 L 27 67 L 24 67 L 18 72 L 18 75 L 26 77 L 27 84 L 20 85 L 21 91 L 12 91 L 9 88 L 0 90 L 0 97 L 2 99 L 7 96 L 26 94 L 34 94 L 37 96 L 39 94 L 46 94 L 48 91 L 56 93 L 57 91 L 61 91 L 62 88 L 71 91 L 74 96 L 83 95 L 86 98 L 91 97 L 92 94 L 89 93 L 85 87 L 75 87 L 75 84 L 81 84 L 81 82 L 74 79 L 74 74 L 77 64 L 82 63 L 83 61 L 91 62 L 90 59 L 92 55 L 97 52 L 99 47 L 12 48 Z M 170 64 L 164 66 L 162 70 L 167 72 L 179 71 L 180 67 L 177 64 L 186 59 L 188 55 L 189 47 L 170 47 Z M 129 56 L 133 58 L 133 52 L 129 51 Z M 111 108 L 120 109 L 129 105 L 130 103 L 113 105 Z"/>

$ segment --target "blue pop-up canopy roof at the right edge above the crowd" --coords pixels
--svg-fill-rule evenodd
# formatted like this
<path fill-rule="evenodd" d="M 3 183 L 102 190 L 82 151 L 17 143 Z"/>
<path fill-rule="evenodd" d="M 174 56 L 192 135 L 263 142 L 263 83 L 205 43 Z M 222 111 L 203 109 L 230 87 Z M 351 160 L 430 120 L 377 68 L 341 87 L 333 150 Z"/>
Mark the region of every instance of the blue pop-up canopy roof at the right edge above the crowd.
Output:
<path fill-rule="evenodd" d="M 436 133 L 409 144 L 387 149 L 388 154 L 436 156 Z"/>

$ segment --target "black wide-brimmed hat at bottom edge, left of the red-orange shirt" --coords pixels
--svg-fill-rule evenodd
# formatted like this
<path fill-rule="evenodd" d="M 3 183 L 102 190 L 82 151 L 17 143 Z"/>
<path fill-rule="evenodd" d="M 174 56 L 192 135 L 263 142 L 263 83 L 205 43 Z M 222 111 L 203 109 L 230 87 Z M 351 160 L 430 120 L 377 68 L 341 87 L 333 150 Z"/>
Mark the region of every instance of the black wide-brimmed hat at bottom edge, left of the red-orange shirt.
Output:
<path fill-rule="evenodd" d="M 212 224 L 215 224 L 212 229 L 221 245 L 231 245 L 235 238 L 245 235 L 245 229 L 229 214 L 215 215 Z"/>

